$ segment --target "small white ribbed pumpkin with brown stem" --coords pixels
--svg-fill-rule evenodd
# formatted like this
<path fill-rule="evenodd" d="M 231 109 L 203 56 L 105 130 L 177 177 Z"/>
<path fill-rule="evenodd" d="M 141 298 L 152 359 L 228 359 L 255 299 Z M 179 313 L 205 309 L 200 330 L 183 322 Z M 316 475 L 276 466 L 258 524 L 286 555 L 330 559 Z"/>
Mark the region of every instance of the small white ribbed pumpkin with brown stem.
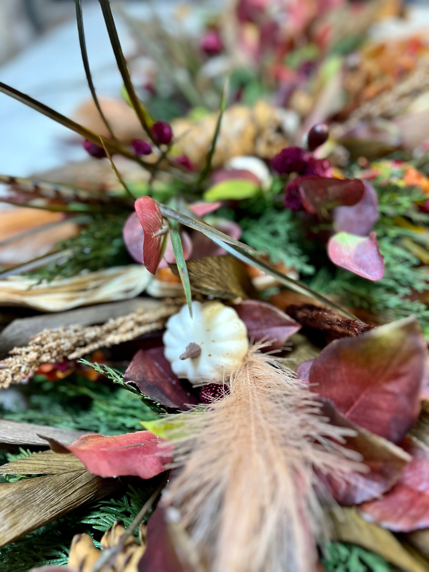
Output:
<path fill-rule="evenodd" d="M 221 302 L 192 302 L 170 316 L 164 355 L 173 372 L 190 382 L 220 382 L 243 363 L 249 349 L 247 328 L 235 309 Z"/>

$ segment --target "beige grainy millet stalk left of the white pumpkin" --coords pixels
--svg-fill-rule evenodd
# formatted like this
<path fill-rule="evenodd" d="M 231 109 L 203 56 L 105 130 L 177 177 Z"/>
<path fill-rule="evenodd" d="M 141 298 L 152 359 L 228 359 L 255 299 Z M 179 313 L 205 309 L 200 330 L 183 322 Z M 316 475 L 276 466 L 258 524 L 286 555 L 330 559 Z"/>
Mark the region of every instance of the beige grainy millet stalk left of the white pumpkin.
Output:
<path fill-rule="evenodd" d="M 98 348 L 121 344 L 162 329 L 166 318 L 179 309 L 176 304 L 165 305 L 152 312 L 132 312 L 102 325 L 45 329 L 34 336 L 29 345 L 11 349 L 11 357 L 0 362 L 0 388 L 25 382 L 42 363 L 78 359 Z"/>

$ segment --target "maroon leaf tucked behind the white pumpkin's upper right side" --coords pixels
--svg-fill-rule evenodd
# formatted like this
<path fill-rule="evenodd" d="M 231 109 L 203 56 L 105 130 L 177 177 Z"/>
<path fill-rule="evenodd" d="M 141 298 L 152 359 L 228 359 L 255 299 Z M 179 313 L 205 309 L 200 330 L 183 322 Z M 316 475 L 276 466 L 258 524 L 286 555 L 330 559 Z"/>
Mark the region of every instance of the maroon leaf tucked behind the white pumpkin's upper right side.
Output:
<path fill-rule="evenodd" d="M 270 345 L 263 348 L 264 351 L 280 349 L 289 337 L 301 329 L 295 320 L 267 302 L 244 300 L 234 308 L 246 324 L 249 338 L 256 342 L 272 340 Z"/>

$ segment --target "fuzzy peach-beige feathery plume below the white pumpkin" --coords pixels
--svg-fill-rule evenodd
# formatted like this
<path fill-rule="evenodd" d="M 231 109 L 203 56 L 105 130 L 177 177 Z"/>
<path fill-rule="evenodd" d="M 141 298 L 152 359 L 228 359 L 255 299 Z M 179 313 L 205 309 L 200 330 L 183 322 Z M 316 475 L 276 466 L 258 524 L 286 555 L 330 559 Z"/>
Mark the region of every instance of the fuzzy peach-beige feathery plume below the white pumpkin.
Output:
<path fill-rule="evenodd" d="M 326 528 L 314 469 L 362 467 L 338 444 L 350 432 L 329 425 L 314 394 L 257 348 L 229 385 L 224 399 L 182 416 L 182 470 L 164 502 L 180 511 L 210 572 L 311 571 Z"/>

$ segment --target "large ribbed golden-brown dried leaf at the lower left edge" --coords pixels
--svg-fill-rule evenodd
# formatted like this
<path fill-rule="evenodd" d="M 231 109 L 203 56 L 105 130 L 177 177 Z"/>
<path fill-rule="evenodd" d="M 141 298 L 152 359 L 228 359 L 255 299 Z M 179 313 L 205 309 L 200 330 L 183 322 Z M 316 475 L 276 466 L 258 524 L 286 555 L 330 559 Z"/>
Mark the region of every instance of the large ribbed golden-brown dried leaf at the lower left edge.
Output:
<path fill-rule="evenodd" d="M 102 479 L 85 470 L 0 484 L 0 546 L 120 486 L 120 481 Z"/>

